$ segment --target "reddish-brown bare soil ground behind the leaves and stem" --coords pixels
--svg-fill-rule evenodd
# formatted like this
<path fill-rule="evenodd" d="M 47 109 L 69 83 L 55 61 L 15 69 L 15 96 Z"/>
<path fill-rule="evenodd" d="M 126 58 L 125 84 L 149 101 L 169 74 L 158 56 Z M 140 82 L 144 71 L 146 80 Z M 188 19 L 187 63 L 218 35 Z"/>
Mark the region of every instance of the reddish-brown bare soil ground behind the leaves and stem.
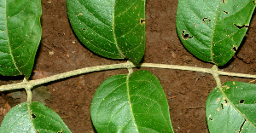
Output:
<path fill-rule="evenodd" d="M 32 79 L 83 67 L 124 62 L 102 58 L 79 43 L 67 19 L 66 0 L 42 0 L 42 6 L 43 36 Z M 177 0 L 147 0 L 146 7 L 147 38 L 143 62 L 212 67 L 212 64 L 199 61 L 189 54 L 178 39 L 175 26 Z M 146 69 L 159 78 L 168 99 L 175 132 L 208 132 L 205 104 L 207 95 L 216 86 L 211 75 L 158 68 L 140 69 Z M 236 55 L 229 64 L 220 69 L 226 72 L 256 74 L 255 15 Z M 46 106 L 58 113 L 73 133 L 96 132 L 90 119 L 90 102 L 93 95 L 105 79 L 122 73 L 127 73 L 127 70 L 93 72 L 44 84 L 52 95 L 45 101 Z M 246 83 L 253 81 L 228 76 L 220 78 L 223 83 L 230 80 Z M 20 82 L 20 79 L 22 78 L 2 76 L 0 84 Z M 10 98 L 8 93 L 0 93 L 0 107 L 4 107 L 6 101 L 11 107 L 19 104 L 20 101 Z M 3 114 L 0 116 L 0 123 L 2 121 Z"/>

